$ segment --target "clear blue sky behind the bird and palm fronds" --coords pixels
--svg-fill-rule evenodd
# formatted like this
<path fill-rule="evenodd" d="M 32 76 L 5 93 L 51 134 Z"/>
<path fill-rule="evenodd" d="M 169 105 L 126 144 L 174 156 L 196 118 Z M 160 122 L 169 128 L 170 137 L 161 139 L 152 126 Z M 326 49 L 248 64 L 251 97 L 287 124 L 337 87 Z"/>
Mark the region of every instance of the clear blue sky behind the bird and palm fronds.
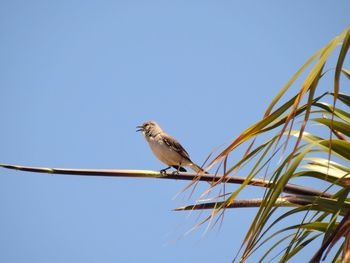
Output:
<path fill-rule="evenodd" d="M 349 1 L 1 1 L 0 163 L 154 169 L 154 119 L 198 163 L 257 121 Z M 238 158 L 232 155 L 232 159 Z M 186 236 L 186 183 L 0 170 L 0 262 L 230 262 L 256 210 Z"/>

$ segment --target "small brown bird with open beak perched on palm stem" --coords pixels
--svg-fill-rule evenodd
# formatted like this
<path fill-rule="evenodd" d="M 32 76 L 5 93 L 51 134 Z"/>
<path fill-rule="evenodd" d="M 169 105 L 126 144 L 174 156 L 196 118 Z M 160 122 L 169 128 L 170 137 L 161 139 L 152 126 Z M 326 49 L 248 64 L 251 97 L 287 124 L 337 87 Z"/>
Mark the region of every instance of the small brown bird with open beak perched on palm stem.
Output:
<path fill-rule="evenodd" d="M 168 166 L 161 172 L 164 173 L 171 167 L 175 168 L 177 172 L 187 172 L 184 168 L 186 166 L 196 173 L 207 173 L 199 165 L 192 162 L 184 147 L 174 137 L 163 131 L 155 121 L 146 121 L 136 128 L 138 132 L 143 133 L 158 160 Z"/>

